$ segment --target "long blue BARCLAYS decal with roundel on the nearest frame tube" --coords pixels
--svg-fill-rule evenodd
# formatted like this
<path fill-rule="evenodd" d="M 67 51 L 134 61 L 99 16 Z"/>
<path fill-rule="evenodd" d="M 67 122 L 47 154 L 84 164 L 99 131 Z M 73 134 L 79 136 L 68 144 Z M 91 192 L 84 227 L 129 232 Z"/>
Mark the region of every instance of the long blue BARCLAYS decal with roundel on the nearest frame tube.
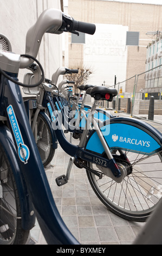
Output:
<path fill-rule="evenodd" d="M 26 164 L 26 163 L 28 163 L 30 151 L 29 151 L 27 145 L 25 145 L 23 142 L 20 127 L 18 126 L 16 115 L 15 115 L 14 109 L 11 105 L 8 106 L 7 113 L 9 116 L 12 131 L 14 132 L 14 137 L 15 137 L 15 140 L 17 143 L 18 157 L 20 158 L 20 160 L 22 162 L 24 162 L 24 164 Z"/>

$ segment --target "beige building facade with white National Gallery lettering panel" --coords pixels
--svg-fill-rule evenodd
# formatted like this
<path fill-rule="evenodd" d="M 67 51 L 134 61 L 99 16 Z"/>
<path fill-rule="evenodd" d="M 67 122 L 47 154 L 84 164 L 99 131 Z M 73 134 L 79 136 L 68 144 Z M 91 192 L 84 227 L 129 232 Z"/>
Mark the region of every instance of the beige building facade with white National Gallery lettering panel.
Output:
<path fill-rule="evenodd" d="M 86 35 L 85 43 L 68 35 L 68 58 L 73 68 L 92 68 L 88 83 L 112 86 L 145 72 L 147 45 L 154 40 L 150 31 L 162 30 L 162 5 L 104 0 L 68 0 L 67 11 L 74 19 L 96 24 L 96 36 Z M 111 28 L 112 26 L 112 28 Z M 126 45 L 127 32 L 138 32 L 138 45 Z M 134 39 L 133 39 L 134 40 Z M 88 44 L 88 45 L 87 45 Z M 122 83 L 121 91 L 132 93 L 134 83 Z M 145 80 L 140 83 L 145 88 Z"/>

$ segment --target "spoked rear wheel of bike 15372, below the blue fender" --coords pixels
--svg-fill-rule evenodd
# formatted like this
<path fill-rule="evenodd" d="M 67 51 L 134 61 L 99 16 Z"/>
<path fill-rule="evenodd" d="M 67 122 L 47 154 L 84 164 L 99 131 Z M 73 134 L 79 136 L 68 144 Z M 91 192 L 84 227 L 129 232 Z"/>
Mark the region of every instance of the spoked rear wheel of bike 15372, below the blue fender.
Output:
<path fill-rule="evenodd" d="M 108 176 L 98 176 L 87 170 L 94 192 L 101 202 L 116 215 L 130 221 L 145 222 L 162 195 L 162 153 L 152 156 L 125 151 L 129 163 L 122 159 L 116 149 L 112 154 L 126 176 L 117 183 Z M 89 163 L 91 169 L 102 172 L 97 164 Z"/>

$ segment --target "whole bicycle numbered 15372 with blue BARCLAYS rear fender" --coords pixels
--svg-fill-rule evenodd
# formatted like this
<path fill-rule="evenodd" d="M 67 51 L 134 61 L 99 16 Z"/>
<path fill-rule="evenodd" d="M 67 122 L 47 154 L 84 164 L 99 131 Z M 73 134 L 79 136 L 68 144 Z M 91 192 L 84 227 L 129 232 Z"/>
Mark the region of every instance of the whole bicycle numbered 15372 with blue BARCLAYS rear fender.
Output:
<path fill-rule="evenodd" d="M 102 86 L 86 89 L 94 103 L 84 125 L 76 126 L 76 111 L 71 119 L 67 101 L 56 95 L 55 87 L 46 83 L 43 87 L 42 108 L 48 109 L 55 141 L 71 156 L 67 174 L 56 179 L 57 185 L 68 182 L 73 164 L 85 168 L 96 196 L 109 210 L 127 220 L 146 221 L 161 197 L 161 133 L 137 119 L 95 118 L 98 101 L 112 101 L 117 94 Z M 77 146 L 68 141 L 62 127 L 80 132 Z"/>

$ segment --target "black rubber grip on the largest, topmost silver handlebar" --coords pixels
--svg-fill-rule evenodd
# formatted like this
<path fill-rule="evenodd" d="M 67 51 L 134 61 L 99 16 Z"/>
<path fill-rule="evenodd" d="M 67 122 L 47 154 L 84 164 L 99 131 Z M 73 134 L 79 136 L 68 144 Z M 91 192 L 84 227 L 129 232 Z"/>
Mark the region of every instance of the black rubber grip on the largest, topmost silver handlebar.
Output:
<path fill-rule="evenodd" d="M 78 31 L 78 32 L 93 35 L 95 33 L 95 29 L 96 29 L 96 26 L 93 23 L 76 21 L 73 19 L 73 31 Z"/>

